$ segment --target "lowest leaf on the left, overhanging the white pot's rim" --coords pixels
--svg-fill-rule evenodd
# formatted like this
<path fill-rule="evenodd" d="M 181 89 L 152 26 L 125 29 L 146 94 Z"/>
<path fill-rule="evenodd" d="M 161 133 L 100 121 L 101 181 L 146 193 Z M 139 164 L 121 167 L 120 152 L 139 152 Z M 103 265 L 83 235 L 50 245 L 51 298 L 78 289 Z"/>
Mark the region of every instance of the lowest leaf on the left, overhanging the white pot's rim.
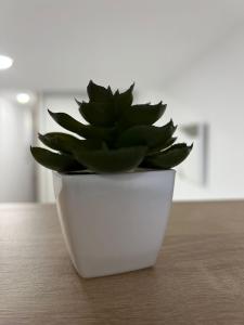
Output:
<path fill-rule="evenodd" d="M 30 147 L 34 158 L 42 166 L 59 172 L 86 169 L 72 156 L 56 154 L 42 147 Z"/>

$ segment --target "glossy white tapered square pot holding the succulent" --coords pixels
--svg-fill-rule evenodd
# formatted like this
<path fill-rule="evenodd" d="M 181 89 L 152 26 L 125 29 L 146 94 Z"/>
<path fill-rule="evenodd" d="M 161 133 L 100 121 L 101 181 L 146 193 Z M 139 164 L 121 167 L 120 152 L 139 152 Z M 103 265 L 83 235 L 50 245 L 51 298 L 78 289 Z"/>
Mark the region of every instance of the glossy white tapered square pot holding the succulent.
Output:
<path fill-rule="evenodd" d="M 81 276 L 155 264 L 171 206 L 175 170 L 54 172 L 53 178 L 62 231 Z"/>

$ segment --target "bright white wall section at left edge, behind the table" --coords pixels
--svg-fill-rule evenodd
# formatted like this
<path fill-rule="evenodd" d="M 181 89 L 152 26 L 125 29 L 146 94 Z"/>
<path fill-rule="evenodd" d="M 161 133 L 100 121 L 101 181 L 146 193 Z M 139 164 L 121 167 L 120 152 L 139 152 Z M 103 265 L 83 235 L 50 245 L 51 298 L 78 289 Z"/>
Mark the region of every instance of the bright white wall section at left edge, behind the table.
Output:
<path fill-rule="evenodd" d="M 34 202 L 31 108 L 0 95 L 0 203 Z"/>

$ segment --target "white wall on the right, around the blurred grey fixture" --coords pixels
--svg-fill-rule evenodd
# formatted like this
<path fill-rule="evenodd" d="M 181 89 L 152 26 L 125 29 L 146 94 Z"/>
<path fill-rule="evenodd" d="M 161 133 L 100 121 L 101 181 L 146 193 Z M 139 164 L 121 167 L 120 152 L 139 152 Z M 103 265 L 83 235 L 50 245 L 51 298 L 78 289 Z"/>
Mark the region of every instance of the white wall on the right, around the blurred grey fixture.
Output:
<path fill-rule="evenodd" d="M 244 198 L 244 28 L 164 88 L 176 121 L 209 125 L 208 182 L 177 180 L 176 198 Z"/>

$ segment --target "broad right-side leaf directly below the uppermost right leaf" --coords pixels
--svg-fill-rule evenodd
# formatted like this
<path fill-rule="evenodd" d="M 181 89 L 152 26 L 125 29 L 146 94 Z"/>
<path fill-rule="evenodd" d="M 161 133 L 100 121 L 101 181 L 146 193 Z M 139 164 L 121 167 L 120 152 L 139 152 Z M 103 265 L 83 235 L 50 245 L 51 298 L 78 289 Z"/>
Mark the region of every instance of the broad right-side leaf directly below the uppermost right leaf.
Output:
<path fill-rule="evenodd" d="M 146 145 L 150 151 L 155 147 L 162 150 L 167 147 L 167 142 L 176 128 L 172 120 L 163 127 L 136 126 L 121 133 L 117 146 Z"/>

